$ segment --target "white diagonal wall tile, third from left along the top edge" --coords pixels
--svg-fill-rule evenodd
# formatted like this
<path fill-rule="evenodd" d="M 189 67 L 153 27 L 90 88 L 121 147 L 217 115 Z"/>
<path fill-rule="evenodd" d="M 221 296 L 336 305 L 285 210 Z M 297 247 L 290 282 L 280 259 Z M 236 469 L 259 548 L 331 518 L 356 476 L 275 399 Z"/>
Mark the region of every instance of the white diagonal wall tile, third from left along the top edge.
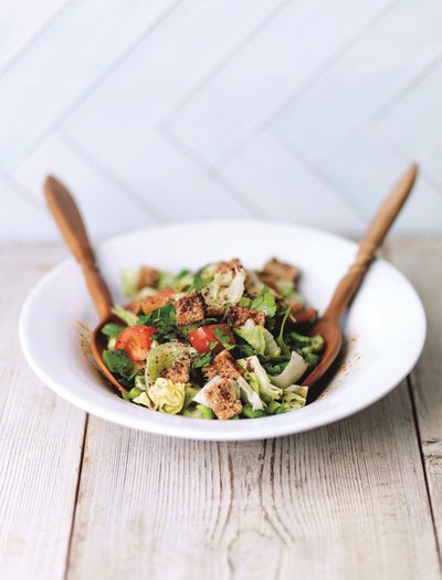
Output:
<path fill-rule="evenodd" d="M 345 46 L 386 0 L 294 1 L 169 122 L 217 164 Z"/>

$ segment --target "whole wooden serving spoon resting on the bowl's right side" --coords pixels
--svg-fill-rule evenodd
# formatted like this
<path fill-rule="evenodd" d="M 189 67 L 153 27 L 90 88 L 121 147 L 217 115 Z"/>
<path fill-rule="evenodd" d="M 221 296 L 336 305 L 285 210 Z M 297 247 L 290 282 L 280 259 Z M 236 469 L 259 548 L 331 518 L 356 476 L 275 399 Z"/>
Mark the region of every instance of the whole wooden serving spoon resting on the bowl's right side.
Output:
<path fill-rule="evenodd" d="M 411 165 L 387 196 L 359 244 L 355 263 L 337 285 L 327 309 L 312 328 L 312 336 L 322 335 L 324 337 L 325 349 L 318 366 L 303 380 L 303 384 L 312 387 L 336 360 L 343 346 L 339 320 L 359 288 L 376 251 L 383 242 L 411 192 L 417 175 L 418 166 Z"/>

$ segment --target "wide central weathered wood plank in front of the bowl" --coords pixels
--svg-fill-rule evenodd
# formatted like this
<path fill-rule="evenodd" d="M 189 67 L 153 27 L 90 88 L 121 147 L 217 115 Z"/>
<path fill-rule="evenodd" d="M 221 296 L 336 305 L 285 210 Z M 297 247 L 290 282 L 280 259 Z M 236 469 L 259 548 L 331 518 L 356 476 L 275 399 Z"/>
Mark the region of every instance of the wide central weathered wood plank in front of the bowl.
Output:
<path fill-rule="evenodd" d="M 311 433 L 202 443 L 91 418 L 69 580 L 440 578 L 409 392 Z"/>

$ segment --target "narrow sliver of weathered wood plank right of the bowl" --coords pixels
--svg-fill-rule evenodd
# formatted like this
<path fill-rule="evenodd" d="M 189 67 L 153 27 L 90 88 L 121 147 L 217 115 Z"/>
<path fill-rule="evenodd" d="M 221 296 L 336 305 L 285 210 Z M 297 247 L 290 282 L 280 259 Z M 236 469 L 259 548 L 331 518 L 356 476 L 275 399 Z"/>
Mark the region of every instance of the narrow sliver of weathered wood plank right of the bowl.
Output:
<path fill-rule="evenodd" d="M 411 373 L 411 389 L 442 559 L 442 240 L 394 240 L 389 255 L 412 282 L 427 312 L 427 342 Z"/>

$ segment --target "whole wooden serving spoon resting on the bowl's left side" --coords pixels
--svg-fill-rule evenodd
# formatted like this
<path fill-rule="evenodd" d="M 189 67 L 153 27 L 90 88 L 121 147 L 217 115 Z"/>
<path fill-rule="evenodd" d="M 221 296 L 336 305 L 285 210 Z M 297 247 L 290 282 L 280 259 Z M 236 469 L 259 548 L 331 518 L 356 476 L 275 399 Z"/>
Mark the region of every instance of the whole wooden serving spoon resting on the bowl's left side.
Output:
<path fill-rule="evenodd" d="M 44 181 L 44 194 L 66 244 L 83 268 L 87 288 L 99 316 L 99 324 L 91 335 L 92 356 L 106 379 L 119 391 L 127 392 L 127 389 L 116 380 L 102 358 L 103 350 L 107 348 L 107 339 L 101 333 L 103 326 L 108 323 L 122 324 L 122 321 L 112 314 L 110 293 L 95 263 L 95 255 L 78 208 L 63 183 L 52 176 L 46 177 Z"/>

